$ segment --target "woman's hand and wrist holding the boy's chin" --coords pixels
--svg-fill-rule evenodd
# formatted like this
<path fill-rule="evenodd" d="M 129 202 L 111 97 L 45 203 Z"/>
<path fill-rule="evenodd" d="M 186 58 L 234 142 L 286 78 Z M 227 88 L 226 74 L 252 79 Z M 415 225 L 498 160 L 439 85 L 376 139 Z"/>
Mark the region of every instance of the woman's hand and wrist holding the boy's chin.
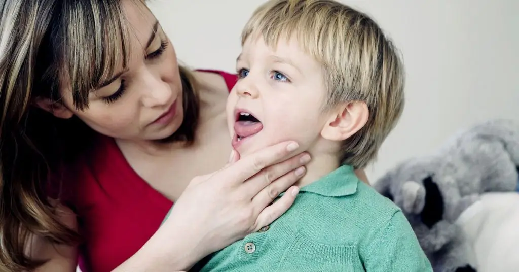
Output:
<path fill-rule="evenodd" d="M 153 269 L 148 269 L 189 269 L 290 208 L 299 191 L 293 184 L 304 175 L 309 154 L 289 141 L 238 156 L 233 151 L 223 169 L 192 180 L 166 222 L 141 250 L 155 260 Z M 138 254 L 132 257 L 135 263 Z"/>

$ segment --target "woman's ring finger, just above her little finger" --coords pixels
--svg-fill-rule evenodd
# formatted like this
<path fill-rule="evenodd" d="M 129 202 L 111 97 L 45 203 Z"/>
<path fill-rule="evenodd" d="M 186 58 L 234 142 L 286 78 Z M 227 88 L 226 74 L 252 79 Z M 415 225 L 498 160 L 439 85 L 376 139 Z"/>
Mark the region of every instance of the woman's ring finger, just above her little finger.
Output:
<path fill-rule="evenodd" d="M 254 214 L 259 214 L 265 207 L 272 203 L 282 192 L 290 188 L 294 183 L 297 182 L 305 174 L 305 167 L 301 166 L 298 169 L 291 171 L 280 178 L 276 179 L 275 182 L 267 185 L 252 199 L 252 205 L 254 207 Z"/>

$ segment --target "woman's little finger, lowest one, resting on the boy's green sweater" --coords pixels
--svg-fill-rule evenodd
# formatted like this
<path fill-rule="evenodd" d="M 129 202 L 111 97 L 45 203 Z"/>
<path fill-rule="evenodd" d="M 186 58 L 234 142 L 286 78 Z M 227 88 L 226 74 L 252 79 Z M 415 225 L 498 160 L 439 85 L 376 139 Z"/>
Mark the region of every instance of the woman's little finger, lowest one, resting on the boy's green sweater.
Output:
<path fill-rule="evenodd" d="M 258 215 L 256 223 L 254 224 L 254 229 L 252 229 L 251 232 L 258 231 L 260 228 L 270 225 L 284 214 L 294 203 L 297 193 L 299 193 L 299 188 L 297 186 L 292 186 L 278 201 L 263 209 L 263 211 Z"/>

